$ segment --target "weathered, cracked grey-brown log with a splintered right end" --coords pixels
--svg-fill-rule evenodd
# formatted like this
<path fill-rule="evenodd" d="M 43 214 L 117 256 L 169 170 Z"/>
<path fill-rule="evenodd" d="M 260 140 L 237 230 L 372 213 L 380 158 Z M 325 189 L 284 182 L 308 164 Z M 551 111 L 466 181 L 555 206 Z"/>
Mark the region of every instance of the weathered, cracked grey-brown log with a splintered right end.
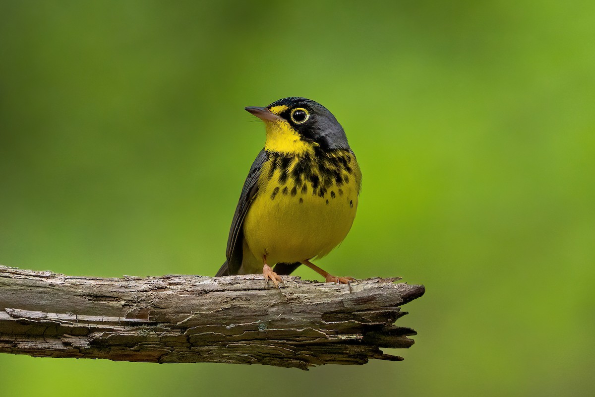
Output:
<path fill-rule="evenodd" d="M 0 352 L 143 362 L 228 362 L 307 369 L 402 360 L 415 331 L 394 326 L 420 285 L 347 286 L 262 274 L 104 279 L 0 265 Z"/>

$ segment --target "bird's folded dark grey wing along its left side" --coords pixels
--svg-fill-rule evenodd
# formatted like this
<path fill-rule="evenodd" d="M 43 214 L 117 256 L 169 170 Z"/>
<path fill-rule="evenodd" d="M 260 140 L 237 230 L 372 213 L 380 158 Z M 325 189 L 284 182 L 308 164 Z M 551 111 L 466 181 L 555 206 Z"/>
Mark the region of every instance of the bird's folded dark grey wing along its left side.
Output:
<path fill-rule="evenodd" d="M 231 228 L 229 230 L 229 237 L 227 238 L 227 261 L 221 266 L 217 272 L 217 276 L 227 276 L 237 274 L 242 266 L 242 240 L 243 232 L 242 226 L 246 212 L 250 208 L 250 204 L 258 193 L 258 179 L 261 175 L 262 164 L 267 160 L 267 153 L 264 149 L 256 156 L 256 160 L 250 167 L 246 182 L 242 187 L 242 194 L 240 194 L 240 201 L 237 202 L 236 213 L 233 214 L 231 221 Z"/>

